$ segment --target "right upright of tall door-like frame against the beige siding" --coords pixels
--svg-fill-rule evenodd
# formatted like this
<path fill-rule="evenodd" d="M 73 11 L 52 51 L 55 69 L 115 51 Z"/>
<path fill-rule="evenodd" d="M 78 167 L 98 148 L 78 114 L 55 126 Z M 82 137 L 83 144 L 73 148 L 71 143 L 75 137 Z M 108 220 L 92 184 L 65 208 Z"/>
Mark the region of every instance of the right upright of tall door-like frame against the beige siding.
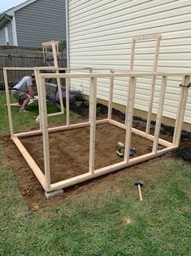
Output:
<path fill-rule="evenodd" d="M 161 40 L 161 37 L 158 37 L 157 40 L 156 40 L 156 49 L 155 49 L 155 54 L 154 54 L 153 72 L 157 71 L 160 40 Z M 151 83 L 151 90 L 150 90 L 150 103 L 149 103 L 148 117 L 147 117 L 147 122 L 146 122 L 146 134 L 147 135 L 150 134 L 150 119 L 151 119 L 153 101 L 154 101 L 155 83 L 156 83 L 156 76 L 153 76 L 152 77 L 152 83 Z"/>

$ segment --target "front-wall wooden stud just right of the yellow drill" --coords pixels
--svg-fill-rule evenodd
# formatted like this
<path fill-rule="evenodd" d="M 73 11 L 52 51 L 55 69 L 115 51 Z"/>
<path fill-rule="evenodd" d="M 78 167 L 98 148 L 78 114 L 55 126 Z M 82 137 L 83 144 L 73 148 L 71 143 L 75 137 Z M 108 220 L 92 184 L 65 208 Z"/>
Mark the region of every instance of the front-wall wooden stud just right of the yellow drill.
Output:
<path fill-rule="evenodd" d="M 136 81 L 137 77 L 130 77 L 129 87 L 128 87 L 128 102 L 125 113 L 125 126 L 126 126 L 126 135 L 124 143 L 124 161 L 128 163 L 129 161 L 129 152 L 131 147 L 131 135 L 132 135 L 132 118 L 133 118 L 133 107 L 135 100 L 135 91 L 136 91 Z"/>

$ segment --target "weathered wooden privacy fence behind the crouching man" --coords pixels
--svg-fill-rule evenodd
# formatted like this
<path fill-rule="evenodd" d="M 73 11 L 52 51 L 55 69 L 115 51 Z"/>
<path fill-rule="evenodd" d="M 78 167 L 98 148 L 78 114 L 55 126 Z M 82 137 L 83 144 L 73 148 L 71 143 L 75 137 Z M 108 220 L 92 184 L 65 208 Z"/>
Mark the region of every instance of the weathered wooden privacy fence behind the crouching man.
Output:
<path fill-rule="evenodd" d="M 59 67 L 65 68 L 67 63 L 65 51 L 59 52 L 58 55 Z M 41 48 L 23 48 L 23 47 L 8 47 L 0 46 L 0 90 L 5 90 L 3 67 L 41 67 L 50 66 L 53 64 L 53 54 L 48 52 L 46 63 L 44 63 L 43 52 Z M 33 69 L 33 68 L 32 68 Z M 8 74 L 9 87 L 15 86 L 20 81 L 21 77 L 30 74 L 30 71 L 15 70 Z"/>

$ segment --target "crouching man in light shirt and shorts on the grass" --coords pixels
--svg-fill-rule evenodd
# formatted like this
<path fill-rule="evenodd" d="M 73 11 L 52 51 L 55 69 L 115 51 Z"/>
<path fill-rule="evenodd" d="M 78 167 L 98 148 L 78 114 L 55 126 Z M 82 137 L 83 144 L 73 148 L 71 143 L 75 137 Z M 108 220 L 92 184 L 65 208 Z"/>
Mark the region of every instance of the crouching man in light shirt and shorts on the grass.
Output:
<path fill-rule="evenodd" d="M 34 97 L 33 81 L 35 81 L 34 73 L 30 76 L 23 77 L 11 90 L 11 94 L 18 101 L 17 104 L 11 104 L 11 107 L 20 108 L 20 113 L 28 113 L 25 108 L 30 99 Z"/>

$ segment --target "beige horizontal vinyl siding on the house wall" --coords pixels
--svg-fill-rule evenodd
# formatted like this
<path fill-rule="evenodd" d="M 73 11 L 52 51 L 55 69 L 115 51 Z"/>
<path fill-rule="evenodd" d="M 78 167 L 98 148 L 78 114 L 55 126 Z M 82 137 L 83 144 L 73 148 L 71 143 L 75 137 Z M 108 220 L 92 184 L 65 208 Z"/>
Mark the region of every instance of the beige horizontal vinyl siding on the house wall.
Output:
<path fill-rule="evenodd" d="M 132 38 L 162 33 L 158 71 L 191 73 L 191 2 L 189 0 L 68 1 L 69 59 L 71 67 L 129 70 Z M 155 42 L 137 42 L 136 71 L 152 71 Z M 163 115 L 176 118 L 181 77 L 168 77 Z M 135 107 L 148 110 L 150 78 L 138 78 Z M 108 99 L 108 79 L 98 79 L 98 97 Z M 161 80 L 156 80 L 153 112 L 157 112 Z M 87 79 L 72 80 L 72 88 Z M 115 79 L 114 101 L 126 104 L 128 80 Z M 191 123 L 191 90 L 184 117 Z"/>

